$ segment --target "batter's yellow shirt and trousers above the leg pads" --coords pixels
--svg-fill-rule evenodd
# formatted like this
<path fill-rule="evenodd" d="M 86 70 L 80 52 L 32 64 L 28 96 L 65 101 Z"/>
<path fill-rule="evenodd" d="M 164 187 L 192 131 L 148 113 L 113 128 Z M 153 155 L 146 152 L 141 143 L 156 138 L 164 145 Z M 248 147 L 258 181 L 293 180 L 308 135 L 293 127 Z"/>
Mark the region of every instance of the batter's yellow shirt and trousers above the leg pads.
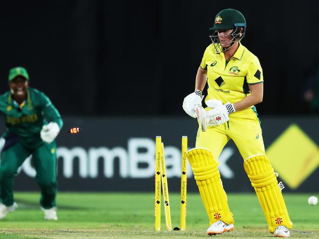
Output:
<path fill-rule="evenodd" d="M 248 84 L 264 82 L 258 58 L 240 42 L 239 48 L 228 62 L 224 53 L 216 52 L 211 44 L 205 50 L 200 67 L 207 70 L 208 76 L 208 95 L 205 101 L 218 99 L 223 104 L 235 103 L 250 95 Z M 230 139 L 236 143 L 243 159 L 265 154 L 262 130 L 254 106 L 230 114 L 227 124 L 208 128 L 206 132 L 199 129 L 196 147 L 209 149 L 213 157 L 218 159 Z"/>

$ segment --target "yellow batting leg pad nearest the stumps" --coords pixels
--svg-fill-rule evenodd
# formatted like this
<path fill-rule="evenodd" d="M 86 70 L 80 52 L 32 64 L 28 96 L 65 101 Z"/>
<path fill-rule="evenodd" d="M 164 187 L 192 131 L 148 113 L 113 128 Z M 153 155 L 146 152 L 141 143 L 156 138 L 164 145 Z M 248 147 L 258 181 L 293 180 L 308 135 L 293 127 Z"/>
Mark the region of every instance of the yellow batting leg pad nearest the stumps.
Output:
<path fill-rule="evenodd" d="M 218 163 L 213 159 L 212 153 L 204 148 L 194 148 L 189 150 L 186 156 L 192 167 L 210 224 L 218 220 L 233 224 L 234 218 L 220 181 Z"/>

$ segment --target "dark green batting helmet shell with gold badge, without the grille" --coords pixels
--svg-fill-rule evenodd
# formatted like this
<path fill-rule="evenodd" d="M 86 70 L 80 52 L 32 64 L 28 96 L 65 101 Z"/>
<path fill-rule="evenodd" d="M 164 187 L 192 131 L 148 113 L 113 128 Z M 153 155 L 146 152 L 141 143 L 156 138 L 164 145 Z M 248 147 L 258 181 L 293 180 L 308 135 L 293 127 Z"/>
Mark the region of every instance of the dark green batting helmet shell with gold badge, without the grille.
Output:
<path fill-rule="evenodd" d="M 238 26 L 246 26 L 244 16 L 238 10 L 227 8 L 217 13 L 214 25 L 210 30 L 233 29 Z"/>

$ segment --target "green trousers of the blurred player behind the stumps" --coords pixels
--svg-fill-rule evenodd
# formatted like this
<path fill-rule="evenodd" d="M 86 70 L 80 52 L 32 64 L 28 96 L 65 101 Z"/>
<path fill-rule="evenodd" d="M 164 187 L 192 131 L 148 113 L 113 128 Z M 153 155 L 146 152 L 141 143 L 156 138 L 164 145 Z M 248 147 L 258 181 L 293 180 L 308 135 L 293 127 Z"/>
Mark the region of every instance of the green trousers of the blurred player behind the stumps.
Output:
<path fill-rule="evenodd" d="M 36 170 L 36 181 L 41 189 L 40 204 L 45 209 L 55 206 L 56 182 L 56 145 L 41 142 L 35 148 L 28 148 L 21 142 L 2 150 L 0 163 L 0 200 L 10 206 L 14 203 L 13 177 L 25 159 L 32 155 Z"/>

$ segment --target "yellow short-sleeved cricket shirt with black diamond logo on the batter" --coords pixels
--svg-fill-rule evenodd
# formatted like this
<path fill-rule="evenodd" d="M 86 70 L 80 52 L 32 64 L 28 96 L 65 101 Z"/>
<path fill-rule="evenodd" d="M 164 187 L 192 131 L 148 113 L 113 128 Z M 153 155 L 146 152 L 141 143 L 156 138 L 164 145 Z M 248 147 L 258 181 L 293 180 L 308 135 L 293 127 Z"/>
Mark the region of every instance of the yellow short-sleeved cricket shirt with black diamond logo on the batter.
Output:
<path fill-rule="evenodd" d="M 235 55 L 227 64 L 224 53 L 216 52 L 211 44 L 204 52 L 200 67 L 207 70 L 208 76 L 209 88 L 205 101 L 219 99 L 223 104 L 236 103 L 251 94 L 248 84 L 264 82 L 257 56 L 240 42 Z"/>

